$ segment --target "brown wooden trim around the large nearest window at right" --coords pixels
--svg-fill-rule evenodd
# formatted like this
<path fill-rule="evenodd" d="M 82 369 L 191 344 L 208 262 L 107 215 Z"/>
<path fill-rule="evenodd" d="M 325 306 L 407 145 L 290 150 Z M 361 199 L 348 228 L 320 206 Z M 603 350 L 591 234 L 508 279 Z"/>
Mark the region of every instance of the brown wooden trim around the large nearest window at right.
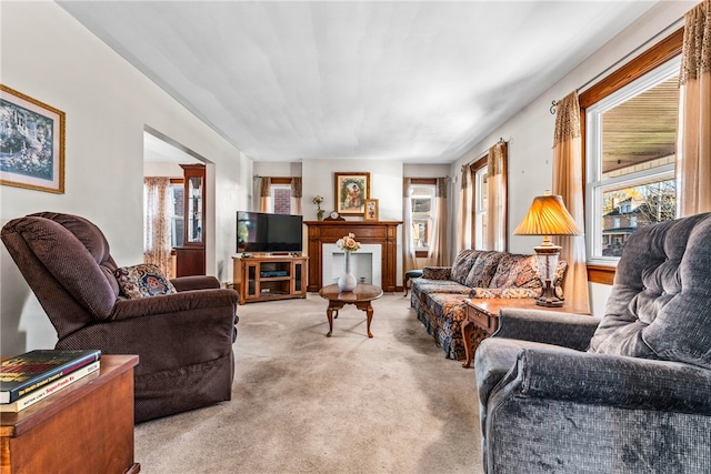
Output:
<path fill-rule="evenodd" d="M 580 133 L 583 138 L 582 142 L 582 175 L 583 183 L 587 183 L 585 177 L 585 112 L 587 109 L 608 95 L 617 92 L 627 84 L 638 80 L 649 71 L 659 68 L 670 59 L 681 54 L 683 47 L 684 29 L 671 33 L 655 46 L 651 47 L 617 71 L 612 72 L 600 82 L 591 85 L 584 92 L 581 92 L 578 100 L 580 102 Z M 584 184 L 587 185 L 587 184 Z M 587 190 L 583 191 L 587 195 Z M 592 283 L 601 283 L 611 285 L 614 281 L 615 266 L 610 265 L 592 265 L 588 264 L 588 281 Z"/>

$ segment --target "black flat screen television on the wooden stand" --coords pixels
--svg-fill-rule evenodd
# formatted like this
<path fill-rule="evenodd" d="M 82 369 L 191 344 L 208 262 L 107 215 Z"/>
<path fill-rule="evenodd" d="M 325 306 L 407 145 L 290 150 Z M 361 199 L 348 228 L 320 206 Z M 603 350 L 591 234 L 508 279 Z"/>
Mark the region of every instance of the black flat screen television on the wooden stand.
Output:
<path fill-rule="evenodd" d="M 301 252 L 301 215 L 238 211 L 238 253 Z"/>

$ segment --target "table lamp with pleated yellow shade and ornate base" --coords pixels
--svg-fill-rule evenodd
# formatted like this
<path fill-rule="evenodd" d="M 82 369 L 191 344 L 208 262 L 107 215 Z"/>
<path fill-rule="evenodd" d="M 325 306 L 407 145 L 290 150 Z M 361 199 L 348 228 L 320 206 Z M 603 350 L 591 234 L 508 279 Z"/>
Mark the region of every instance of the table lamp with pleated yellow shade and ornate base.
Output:
<path fill-rule="evenodd" d="M 515 235 L 543 235 L 543 243 L 534 246 L 538 258 L 538 268 L 543 282 L 543 291 L 535 300 L 539 306 L 560 307 L 563 300 L 558 297 L 553 289 L 555 268 L 560 245 L 551 242 L 551 235 L 580 235 L 582 231 L 570 215 L 560 195 L 551 195 L 545 191 L 544 195 L 533 199 L 529 212 L 513 232 Z"/>

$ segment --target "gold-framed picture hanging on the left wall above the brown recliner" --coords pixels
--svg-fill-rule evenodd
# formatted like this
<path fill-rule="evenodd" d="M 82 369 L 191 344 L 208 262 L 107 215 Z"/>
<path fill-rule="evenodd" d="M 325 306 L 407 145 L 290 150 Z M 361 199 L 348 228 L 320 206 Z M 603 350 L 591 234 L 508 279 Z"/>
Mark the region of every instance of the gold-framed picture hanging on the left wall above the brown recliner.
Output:
<path fill-rule="evenodd" d="M 0 184 L 64 192 L 64 112 L 3 84 Z"/>

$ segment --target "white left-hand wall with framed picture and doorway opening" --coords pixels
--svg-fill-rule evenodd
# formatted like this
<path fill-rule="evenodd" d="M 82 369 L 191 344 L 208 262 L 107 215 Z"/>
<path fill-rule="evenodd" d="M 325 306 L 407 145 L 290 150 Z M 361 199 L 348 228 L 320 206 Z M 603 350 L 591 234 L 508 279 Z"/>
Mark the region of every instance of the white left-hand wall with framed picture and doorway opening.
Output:
<path fill-rule="evenodd" d="M 142 261 L 149 125 L 212 163 L 208 272 L 231 280 L 250 160 L 53 2 L 2 2 L 0 21 L 2 83 L 67 113 L 66 192 L 0 186 L 0 223 L 39 211 L 79 214 L 104 232 L 119 265 Z M 52 347 L 56 333 L 4 246 L 0 282 L 2 353 Z"/>

